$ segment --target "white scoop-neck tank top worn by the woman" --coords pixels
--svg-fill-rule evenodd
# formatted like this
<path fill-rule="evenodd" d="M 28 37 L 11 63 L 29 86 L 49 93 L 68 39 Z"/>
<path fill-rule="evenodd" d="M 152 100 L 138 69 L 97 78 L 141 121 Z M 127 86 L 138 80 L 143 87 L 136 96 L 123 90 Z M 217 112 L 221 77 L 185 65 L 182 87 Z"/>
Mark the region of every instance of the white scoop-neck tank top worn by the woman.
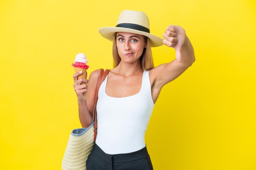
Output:
<path fill-rule="evenodd" d="M 107 81 L 108 76 L 99 88 L 95 143 L 108 154 L 130 153 L 144 148 L 145 132 L 155 105 L 148 71 L 143 72 L 139 93 L 132 96 L 108 96 Z"/>

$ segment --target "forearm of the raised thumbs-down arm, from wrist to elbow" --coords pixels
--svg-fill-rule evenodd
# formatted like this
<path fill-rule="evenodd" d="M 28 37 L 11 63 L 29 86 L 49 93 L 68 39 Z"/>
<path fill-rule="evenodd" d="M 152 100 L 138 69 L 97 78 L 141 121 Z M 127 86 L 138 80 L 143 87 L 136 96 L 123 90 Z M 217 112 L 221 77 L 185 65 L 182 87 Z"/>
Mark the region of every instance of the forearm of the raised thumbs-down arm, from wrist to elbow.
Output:
<path fill-rule="evenodd" d="M 181 63 L 184 65 L 191 66 L 193 64 L 193 62 L 195 61 L 194 48 L 187 36 L 186 36 L 186 40 L 180 50 L 180 54 L 181 54 Z"/>

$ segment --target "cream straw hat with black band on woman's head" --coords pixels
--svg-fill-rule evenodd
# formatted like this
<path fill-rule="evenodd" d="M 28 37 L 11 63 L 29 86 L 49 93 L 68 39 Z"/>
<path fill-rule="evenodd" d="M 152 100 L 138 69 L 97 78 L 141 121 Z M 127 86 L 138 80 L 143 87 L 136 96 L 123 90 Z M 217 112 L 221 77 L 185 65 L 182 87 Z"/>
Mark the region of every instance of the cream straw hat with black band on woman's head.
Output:
<path fill-rule="evenodd" d="M 150 38 L 151 47 L 163 45 L 163 39 L 150 34 L 149 19 L 146 13 L 141 11 L 124 10 L 119 15 L 117 25 L 115 27 L 99 28 L 102 37 L 113 41 L 115 32 L 127 32 L 145 35 Z"/>

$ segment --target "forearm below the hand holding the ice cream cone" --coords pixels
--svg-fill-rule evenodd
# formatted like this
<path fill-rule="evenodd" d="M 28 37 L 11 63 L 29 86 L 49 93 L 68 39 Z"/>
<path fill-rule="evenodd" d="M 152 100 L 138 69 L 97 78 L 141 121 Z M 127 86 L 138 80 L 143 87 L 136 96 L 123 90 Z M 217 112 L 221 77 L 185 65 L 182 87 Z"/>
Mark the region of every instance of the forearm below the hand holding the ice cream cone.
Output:
<path fill-rule="evenodd" d="M 78 112 L 82 127 L 90 126 L 92 124 L 92 114 L 88 110 L 86 100 L 78 100 Z"/>

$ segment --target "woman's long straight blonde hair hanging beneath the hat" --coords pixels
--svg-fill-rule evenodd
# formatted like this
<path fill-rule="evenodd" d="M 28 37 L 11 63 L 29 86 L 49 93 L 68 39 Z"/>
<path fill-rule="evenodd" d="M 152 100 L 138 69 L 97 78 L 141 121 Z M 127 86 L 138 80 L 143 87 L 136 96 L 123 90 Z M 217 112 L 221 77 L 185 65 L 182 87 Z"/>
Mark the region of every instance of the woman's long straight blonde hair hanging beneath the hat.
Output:
<path fill-rule="evenodd" d="M 152 58 L 152 52 L 151 52 L 151 45 L 150 45 L 150 39 L 146 36 L 144 36 L 144 40 L 147 42 L 146 48 L 144 48 L 141 57 L 140 57 L 140 64 L 143 70 L 151 70 L 154 68 L 153 58 Z M 117 52 L 117 33 L 115 33 L 115 38 L 113 41 L 112 46 L 112 55 L 113 55 L 113 68 L 117 67 L 119 65 L 121 58 Z"/>

